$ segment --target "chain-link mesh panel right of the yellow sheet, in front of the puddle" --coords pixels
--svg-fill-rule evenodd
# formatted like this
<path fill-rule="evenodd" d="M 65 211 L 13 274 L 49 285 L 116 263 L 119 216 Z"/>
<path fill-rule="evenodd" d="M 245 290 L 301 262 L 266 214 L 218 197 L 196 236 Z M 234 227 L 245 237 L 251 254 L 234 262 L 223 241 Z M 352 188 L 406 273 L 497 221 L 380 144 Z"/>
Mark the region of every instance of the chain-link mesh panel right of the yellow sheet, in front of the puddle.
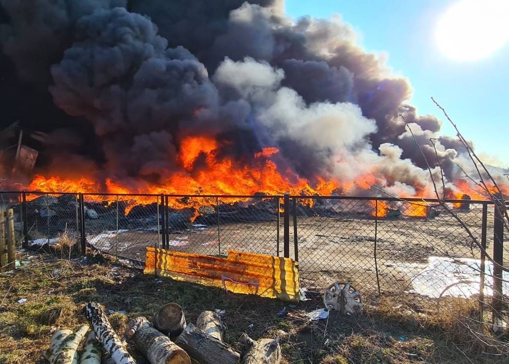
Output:
<path fill-rule="evenodd" d="M 389 199 L 296 200 L 302 285 L 323 289 L 337 281 L 352 282 L 366 296 L 408 292 L 437 298 L 479 293 L 482 249 L 440 204 Z M 492 247 L 493 237 L 486 233 L 493 220 L 483 223 L 487 203 L 446 206 L 479 243 L 484 232 L 488 249 Z M 467 277 L 474 282 L 461 283 Z"/>

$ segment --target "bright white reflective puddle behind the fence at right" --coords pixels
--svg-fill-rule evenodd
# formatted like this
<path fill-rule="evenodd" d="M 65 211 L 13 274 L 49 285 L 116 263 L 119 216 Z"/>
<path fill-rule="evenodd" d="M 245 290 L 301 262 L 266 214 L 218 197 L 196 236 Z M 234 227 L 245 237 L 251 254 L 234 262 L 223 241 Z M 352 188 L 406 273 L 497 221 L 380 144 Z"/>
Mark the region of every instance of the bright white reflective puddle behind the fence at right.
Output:
<path fill-rule="evenodd" d="M 428 264 L 394 264 L 407 272 L 410 292 L 438 298 L 440 295 L 469 297 L 479 293 L 480 260 L 471 258 L 429 257 Z M 485 295 L 493 294 L 493 264 L 486 262 Z M 502 272 L 502 291 L 509 294 L 509 272 Z"/>

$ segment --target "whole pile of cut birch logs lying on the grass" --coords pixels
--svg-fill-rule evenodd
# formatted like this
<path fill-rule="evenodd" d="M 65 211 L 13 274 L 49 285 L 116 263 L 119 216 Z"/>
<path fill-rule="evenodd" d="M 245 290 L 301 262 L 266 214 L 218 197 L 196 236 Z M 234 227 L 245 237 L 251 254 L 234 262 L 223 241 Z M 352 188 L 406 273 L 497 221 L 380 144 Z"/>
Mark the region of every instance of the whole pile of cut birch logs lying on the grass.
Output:
<path fill-rule="evenodd" d="M 193 325 L 186 323 L 182 307 L 168 303 L 152 321 L 132 319 L 123 334 L 127 342 L 111 327 L 102 305 L 90 302 L 83 312 L 92 330 L 87 335 L 89 326 L 83 325 L 76 332 L 56 331 L 43 352 L 50 364 L 135 364 L 127 343 L 151 364 L 278 364 L 281 360 L 279 338 L 254 341 L 243 334 L 241 352 L 224 343 L 225 326 L 212 311 L 202 312 Z M 79 355 L 78 347 L 86 336 Z"/>

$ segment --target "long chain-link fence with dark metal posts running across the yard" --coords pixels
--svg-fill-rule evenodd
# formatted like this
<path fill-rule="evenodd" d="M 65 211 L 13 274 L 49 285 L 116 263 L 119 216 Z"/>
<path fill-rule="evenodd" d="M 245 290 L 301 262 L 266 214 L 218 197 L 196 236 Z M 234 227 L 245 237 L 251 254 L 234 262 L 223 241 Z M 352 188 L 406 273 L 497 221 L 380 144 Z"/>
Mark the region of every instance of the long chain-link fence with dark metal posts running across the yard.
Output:
<path fill-rule="evenodd" d="M 91 246 L 140 262 L 147 246 L 248 251 L 295 259 L 302 287 L 351 282 L 374 299 L 486 295 L 486 304 L 504 307 L 509 293 L 500 269 L 509 254 L 491 201 L 31 191 L 0 198 L 14 210 L 19 247 L 77 243 L 83 255 Z"/>

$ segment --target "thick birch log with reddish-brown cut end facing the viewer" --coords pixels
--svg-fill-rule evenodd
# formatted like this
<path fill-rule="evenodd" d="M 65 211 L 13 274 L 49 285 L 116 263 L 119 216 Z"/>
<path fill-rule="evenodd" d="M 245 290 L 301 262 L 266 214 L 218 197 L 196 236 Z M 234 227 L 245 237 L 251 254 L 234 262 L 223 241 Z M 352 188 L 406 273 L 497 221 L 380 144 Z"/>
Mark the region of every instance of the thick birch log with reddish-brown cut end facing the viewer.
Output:
<path fill-rule="evenodd" d="M 125 336 L 151 364 L 191 364 L 189 355 L 156 330 L 145 317 L 129 321 Z"/>

